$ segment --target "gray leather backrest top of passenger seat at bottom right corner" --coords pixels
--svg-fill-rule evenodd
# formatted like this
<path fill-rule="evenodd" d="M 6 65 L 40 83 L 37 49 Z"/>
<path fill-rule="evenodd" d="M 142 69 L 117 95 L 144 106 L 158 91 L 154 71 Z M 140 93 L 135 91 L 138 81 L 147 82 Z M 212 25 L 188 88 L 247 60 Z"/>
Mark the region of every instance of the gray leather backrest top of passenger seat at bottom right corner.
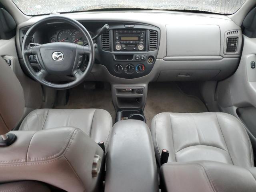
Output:
<path fill-rule="evenodd" d="M 160 168 L 162 192 L 255 192 L 256 168 L 212 161 L 166 163 Z"/>

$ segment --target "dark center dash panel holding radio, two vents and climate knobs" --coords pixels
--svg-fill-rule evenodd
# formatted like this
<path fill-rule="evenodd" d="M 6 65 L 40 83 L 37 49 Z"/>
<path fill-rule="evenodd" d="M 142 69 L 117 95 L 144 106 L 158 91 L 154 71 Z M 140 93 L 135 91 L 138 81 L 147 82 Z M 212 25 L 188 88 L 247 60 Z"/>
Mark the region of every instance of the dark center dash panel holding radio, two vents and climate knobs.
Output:
<path fill-rule="evenodd" d="M 146 24 L 111 25 L 102 34 L 102 64 L 110 74 L 132 79 L 150 73 L 160 40 L 160 30 Z"/>

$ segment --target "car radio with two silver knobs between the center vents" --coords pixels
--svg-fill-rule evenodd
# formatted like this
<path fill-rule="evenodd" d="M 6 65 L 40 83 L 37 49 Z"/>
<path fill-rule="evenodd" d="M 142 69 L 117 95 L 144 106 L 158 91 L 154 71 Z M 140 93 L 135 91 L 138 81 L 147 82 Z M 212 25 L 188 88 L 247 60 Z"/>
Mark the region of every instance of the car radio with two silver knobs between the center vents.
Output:
<path fill-rule="evenodd" d="M 143 29 L 116 29 L 114 30 L 115 51 L 144 51 L 145 34 Z"/>

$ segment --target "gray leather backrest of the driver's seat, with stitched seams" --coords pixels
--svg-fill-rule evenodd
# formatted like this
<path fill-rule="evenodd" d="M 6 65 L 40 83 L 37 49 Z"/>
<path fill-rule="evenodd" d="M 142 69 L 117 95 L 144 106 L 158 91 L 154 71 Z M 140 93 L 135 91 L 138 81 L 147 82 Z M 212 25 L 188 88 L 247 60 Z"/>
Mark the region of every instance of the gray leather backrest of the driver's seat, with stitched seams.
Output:
<path fill-rule="evenodd" d="M 104 152 L 78 128 L 12 131 L 16 142 L 0 148 L 0 183 L 38 180 L 68 192 L 102 190 Z M 92 176 L 94 156 L 99 174 Z"/>

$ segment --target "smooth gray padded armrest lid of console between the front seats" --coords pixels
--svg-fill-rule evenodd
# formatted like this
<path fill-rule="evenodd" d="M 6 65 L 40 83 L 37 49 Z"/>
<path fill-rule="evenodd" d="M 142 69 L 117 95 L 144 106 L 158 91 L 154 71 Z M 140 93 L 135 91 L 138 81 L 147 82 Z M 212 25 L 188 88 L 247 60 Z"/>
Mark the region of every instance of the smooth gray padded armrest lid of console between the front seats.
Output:
<path fill-rule="evenodd" d="M 158 192 L 154 146 L 140 120 L 114 124 L 108 147 L 105 192 Z"/>

